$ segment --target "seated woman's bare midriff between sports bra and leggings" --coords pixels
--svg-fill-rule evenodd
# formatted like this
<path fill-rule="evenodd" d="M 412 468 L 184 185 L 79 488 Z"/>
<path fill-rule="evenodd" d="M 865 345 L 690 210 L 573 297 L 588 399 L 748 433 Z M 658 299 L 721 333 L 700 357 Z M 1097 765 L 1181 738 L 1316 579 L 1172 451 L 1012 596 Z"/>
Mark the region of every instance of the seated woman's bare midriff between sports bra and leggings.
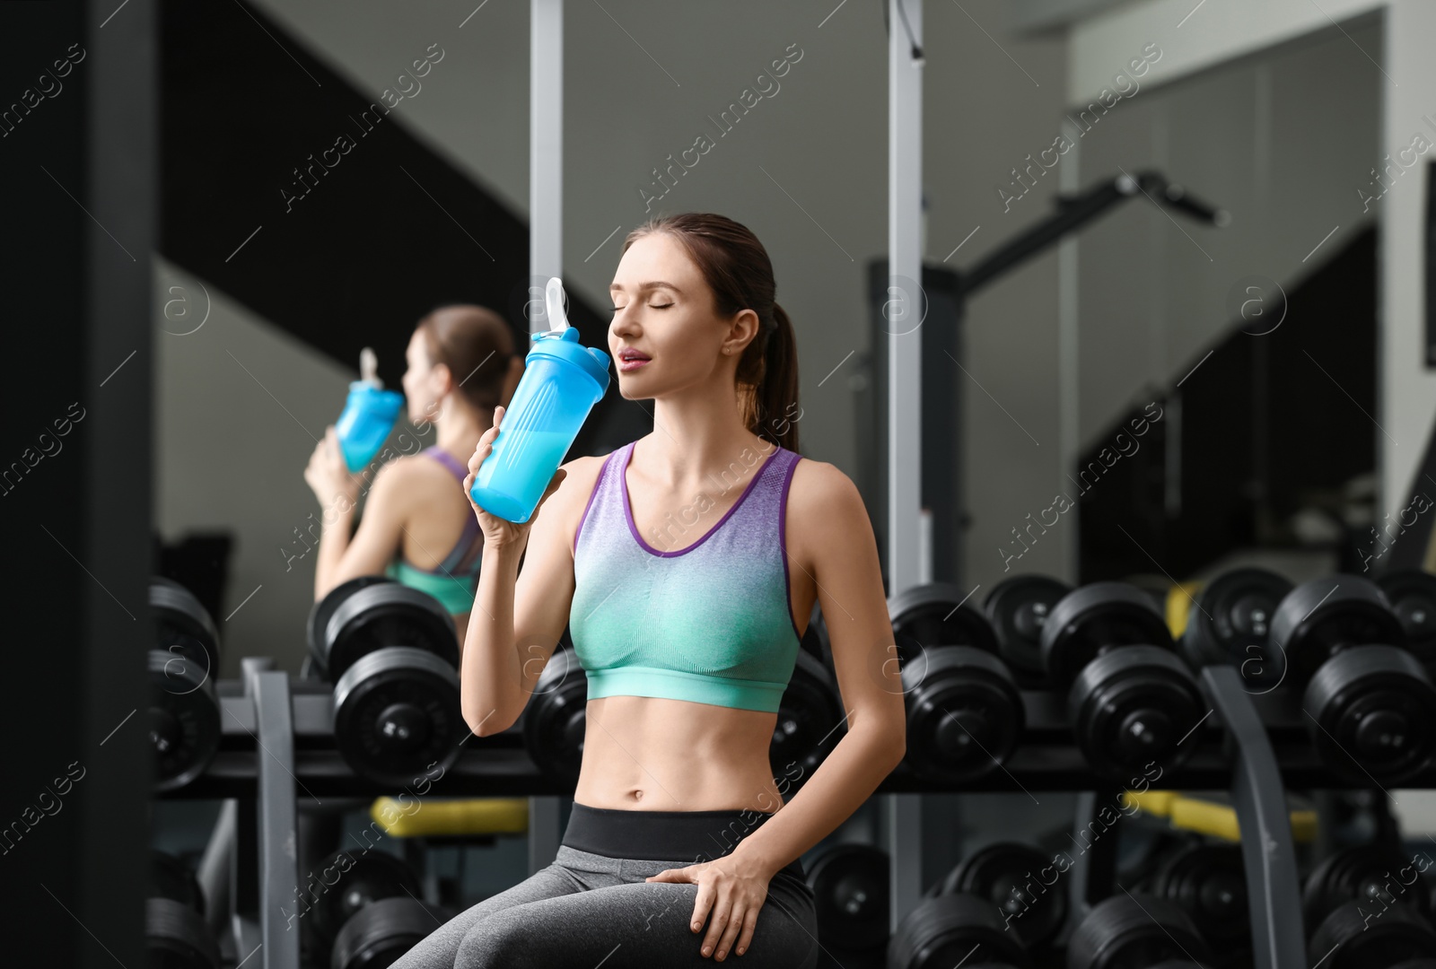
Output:
<path fill-rule="evenodd" d="M 629 811 L 783 805 L 768 764 L 777 713 L 655 696 L 589 701 L 573 800 Z"/>

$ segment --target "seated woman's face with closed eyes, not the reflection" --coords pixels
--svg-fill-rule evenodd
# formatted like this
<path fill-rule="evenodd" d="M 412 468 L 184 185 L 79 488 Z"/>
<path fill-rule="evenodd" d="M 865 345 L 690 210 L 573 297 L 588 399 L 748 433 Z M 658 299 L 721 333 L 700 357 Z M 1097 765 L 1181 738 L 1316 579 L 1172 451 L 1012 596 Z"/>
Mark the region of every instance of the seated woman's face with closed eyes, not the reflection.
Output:
<path fill-rule="evenodd" d="M 666 233 L 652 233 L 629 247 L 609 294 L 609 355 L 619 393 L 628 399 L 658 398 L 712 379 L 724 360 L 735 368 L 741 347 L 757 330 L 751 310 L 719 319 L 698 266 Z M 727 356 L 724 346 L 732 347 Z M 630 362 L 629 355 L 636 359 Z"/>

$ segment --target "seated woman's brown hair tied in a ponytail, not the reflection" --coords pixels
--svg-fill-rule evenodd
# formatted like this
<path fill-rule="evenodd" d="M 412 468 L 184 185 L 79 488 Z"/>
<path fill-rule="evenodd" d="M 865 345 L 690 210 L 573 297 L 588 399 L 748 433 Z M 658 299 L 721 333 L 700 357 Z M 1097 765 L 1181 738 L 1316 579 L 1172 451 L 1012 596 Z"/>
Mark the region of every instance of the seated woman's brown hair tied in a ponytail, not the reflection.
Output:
<path fill-rule="evenodd" d="M 793 322 L 774 301 L 773 263 L 758 237 L 725 215 L 682 212 L 639 225 L 623 251 L 652 233 L 673 235 L 698 264 L 719 316 L 740 310 L 758 314 L 758 336 L 738 357 L 737 380 L 742 419 L 750 431 L 788 451 L 798 449 L 798 429 L 790 411 L 798 401 L 798 347 Z"/>

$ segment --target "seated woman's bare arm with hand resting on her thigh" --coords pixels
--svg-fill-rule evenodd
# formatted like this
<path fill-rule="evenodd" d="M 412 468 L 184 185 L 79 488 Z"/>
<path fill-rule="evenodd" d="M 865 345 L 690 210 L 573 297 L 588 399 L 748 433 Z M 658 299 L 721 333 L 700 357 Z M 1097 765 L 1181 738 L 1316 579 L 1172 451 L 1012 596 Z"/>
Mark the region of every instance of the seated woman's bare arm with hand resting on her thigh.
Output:
<path fill-rule="evenodd" d="M 847 734 L 793 800 L 738 841 L 731 854 L 649 879 L 702 879 L 691 927 L 698 932 L 712 910 L 701 950 L 708 956 L 717 949 L 719 960 L 735 939 L 740 956 L 752 940 L 764 897 L 757 883 L 765 893 L 773 876 L 852 817 L 906 752 L 896 640 L 883 597 L 877 541 L 862 495 L 833 465 L 804 459 L 788 488 L 785 525 L 790 574 L 801 570 L 817 584 Z M 793 535 L 801 535 L 801 541 L 793 543 Z M 791 554 L 794 544 L 798 556 Z M 827 726 L 836 729 L 839 724 Z M 704 869 L 715 871 L 704 877 Z"/>

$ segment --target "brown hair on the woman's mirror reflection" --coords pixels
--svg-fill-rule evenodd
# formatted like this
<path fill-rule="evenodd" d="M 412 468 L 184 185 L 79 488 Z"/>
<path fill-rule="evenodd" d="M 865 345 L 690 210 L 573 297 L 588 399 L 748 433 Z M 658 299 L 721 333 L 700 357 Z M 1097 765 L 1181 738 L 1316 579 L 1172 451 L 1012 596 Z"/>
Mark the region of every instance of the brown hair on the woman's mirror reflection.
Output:
<path fill-rule="evenodd" d="M 432 363 L 442 363 L 454 376 L 454 388 L 470 405 L 491 411 L 511 396 L 505 386 L 514 359 L 513 327 L 498 313 L 482 306 L 441 306 L 415 329 Z"/>

